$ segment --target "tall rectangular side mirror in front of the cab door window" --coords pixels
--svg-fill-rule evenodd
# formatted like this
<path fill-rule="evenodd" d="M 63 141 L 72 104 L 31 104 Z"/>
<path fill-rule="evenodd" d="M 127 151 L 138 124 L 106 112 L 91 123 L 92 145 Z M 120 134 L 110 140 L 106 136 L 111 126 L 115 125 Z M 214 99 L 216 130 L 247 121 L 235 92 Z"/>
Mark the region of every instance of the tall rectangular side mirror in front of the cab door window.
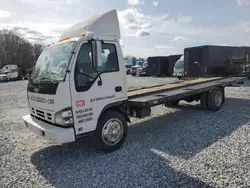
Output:
<path fill-rule="evenodd" d="M 95 70 L 102 66 L 102 42 L 94 40 L 92 41 L 92 59 L 93 68 Z"/>

